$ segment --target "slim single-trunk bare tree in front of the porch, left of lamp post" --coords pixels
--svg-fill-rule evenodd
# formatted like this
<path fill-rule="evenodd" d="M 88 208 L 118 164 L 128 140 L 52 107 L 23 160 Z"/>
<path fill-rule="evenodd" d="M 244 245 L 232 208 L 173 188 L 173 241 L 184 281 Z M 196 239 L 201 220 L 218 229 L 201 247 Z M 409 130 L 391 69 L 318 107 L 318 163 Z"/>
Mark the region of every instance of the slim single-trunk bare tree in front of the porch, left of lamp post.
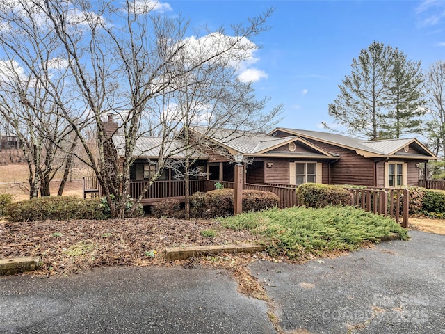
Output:
<path fill-rule="evenodd" d="M 195 40 L 192 46 L 184 48 L 175 57 L 175 68 L 185 72 L 185 68 L 196 58 L 209 54 L 208 39 L 222 38 L 220 35 L 207 35 Z M 193 51 L 189 48 L 193 47 Z M 184 179 L 185 184 L 185 215 L 190 214 L 189 180 L 191 176 L 199 177 L 204 173 L 200 168 L 193 168 L 195 162 L 202 157 L 202 152 L 218 150 L 233 161 L 232 154 L 221 152 L 220 148 L 211 145 L 209 139 L 218 136 L 219 140 L 236 136 L 249 136 L 252 132 L 266 131 L 273 125 L 281 106 L 272 111 L 264 112 L 268 99 L 257 100 L 254 96 L 252 81 L 244 82 L 237 71 L 239 63 L 256 45 L 246 42 L 243 49 L 234 50 L 230 54 L 221 54 L 212 61 L 189 71 L 175 80 L 168 94 L 168 113 L 163 117 L 163 129 L 177 133 L 180 127 L 180 138 L 184 143 L 184 159 L 170 161 L 168 167 L 175 170 L 175 175 Z M 242 53 L 242 55 L 240 55 Z M 195 129 L 200 135 L 196 136 Z M 222 132 L 221 130 L 224 129 Z M 176 131 L 175 131 L 176 130 Z M 221 137 L 223 134 L 223 137 Z"/>

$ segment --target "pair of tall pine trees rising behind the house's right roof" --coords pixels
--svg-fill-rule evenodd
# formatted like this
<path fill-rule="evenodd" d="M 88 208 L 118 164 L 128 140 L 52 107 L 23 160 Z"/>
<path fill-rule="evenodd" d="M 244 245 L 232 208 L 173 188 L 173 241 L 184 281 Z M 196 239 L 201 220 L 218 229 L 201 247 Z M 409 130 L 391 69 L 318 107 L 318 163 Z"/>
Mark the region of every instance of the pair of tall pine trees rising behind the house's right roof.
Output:
<path fill-rule="evenodd" d="M 329 116 L 343 132 L 368 140 L 420 132 L 426 103 L 420 65 L 398 49 L 373 42 L 353 59 L 351 74 L 328 106 Z"/>

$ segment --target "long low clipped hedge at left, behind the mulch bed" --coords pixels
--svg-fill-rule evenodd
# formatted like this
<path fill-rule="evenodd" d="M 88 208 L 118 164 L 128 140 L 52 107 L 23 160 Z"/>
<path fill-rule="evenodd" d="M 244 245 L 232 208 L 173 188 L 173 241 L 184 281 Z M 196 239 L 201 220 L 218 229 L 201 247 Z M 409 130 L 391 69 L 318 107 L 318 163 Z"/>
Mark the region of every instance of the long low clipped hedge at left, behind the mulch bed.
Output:
<path fill-rule="evenodd" d="M 78 196 L 48 196 L 13 202 L 6 207 L 6 214 L 10 221 L 106 218 L 100 198 L 83 200 Z"/>

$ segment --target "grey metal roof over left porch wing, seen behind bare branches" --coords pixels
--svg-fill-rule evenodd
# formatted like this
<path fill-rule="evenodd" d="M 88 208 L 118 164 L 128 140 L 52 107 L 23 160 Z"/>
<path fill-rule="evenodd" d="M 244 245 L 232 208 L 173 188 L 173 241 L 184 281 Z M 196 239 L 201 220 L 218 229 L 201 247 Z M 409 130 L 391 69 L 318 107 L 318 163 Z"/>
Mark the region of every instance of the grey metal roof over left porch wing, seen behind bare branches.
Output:
<path fill-rule="evenodd" d="M 118 151 L 118 157 L 123 157 L 125 154 L 125 136 L 122 134 L 113 135 L 113 144 Z M 172 139 L 163 143 L 163 139 L 159 137 L 140 136 L 136 139 L 136 145 L 133 149 L 133 157 L 141 157 L 148 159 L 158 159 L 159 152 L 161 152 L 161 145 L 164 145 L 164 156 L 172 159 L 181 159 L 186 157 L 186 146 L 177 139 Z M 197 150 L 191 154 L 192 158 L 206 159 L 207 155 Z"/>

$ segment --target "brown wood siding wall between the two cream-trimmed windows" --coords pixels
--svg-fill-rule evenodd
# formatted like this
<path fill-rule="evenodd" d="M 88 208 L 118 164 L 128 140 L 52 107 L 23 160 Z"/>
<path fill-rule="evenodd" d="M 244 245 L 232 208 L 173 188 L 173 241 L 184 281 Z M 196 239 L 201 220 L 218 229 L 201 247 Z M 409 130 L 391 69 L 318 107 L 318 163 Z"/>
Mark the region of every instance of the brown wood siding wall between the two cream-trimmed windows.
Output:
<path fill-rule="evenodd" d="M 357 154 L 354 150 L 307 139 L 319 148 L 337 153 L 341 159 L 331 164 L 331 184 L 357 184 L 374 186 L 374 162 Z"/>

